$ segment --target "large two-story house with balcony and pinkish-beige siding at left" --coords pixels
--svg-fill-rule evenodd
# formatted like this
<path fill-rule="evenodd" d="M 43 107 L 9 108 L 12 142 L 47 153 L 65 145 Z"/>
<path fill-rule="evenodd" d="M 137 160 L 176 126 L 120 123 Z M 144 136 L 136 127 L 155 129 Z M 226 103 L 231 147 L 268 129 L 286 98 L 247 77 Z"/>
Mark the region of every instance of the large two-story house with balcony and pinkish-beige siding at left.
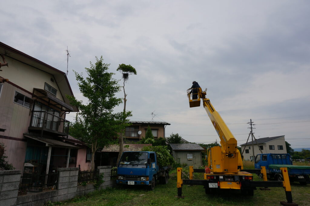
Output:
<path fill-rule="evenodd" d="M 1 42 L 0 53 L 9 65 L 0 71 L 0 78 L 9 79 L 0 83 L 0 141 L 7 161 L 19 170 L 29 163 L 40 173 L 76 166 L 82 144 L 67 141 L 66 114 L 78 110 L 66 97 L 73 95 L 66 74 Z"/>

